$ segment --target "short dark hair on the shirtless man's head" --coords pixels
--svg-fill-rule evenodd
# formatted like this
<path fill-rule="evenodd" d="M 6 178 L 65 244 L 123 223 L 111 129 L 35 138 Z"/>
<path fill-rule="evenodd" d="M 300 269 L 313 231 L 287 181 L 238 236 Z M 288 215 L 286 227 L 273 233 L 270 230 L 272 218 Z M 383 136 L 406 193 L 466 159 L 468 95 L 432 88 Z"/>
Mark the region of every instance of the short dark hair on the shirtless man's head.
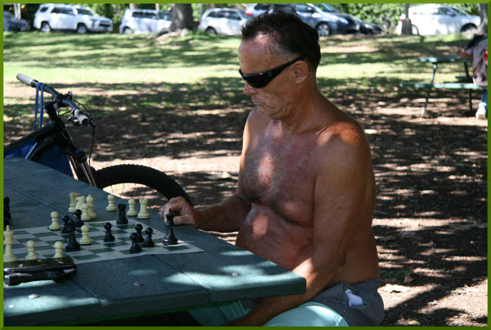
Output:
<path fill-rule="evenodd" d="M 242 28 L 243 41 L 260 35 L 268 37 L 270 53 L 290 60 L 304 57 L 309 70 L 317 70 L 321 60 L 319 35 L 296 12 L 266 11 Z"/>

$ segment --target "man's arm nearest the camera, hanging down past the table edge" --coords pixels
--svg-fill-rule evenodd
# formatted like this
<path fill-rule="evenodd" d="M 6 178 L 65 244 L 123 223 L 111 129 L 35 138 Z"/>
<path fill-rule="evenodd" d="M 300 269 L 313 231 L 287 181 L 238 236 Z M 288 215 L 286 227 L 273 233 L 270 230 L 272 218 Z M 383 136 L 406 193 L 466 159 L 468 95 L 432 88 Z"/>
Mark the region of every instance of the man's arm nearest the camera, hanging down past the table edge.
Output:
<path fill-rule="evenodd" d="M 343 270 L 348 244 L 355 243 L 360 205 L 372 176 L 370 150 L 362 134 L 348 128 L 323 142 L 325 153 L 318 161 L 326 165 L 315 184 L 312 251 L 293 270 L 306 279 L 305 294 L 267 298 L 246 316 L 226 325 L 262 326 L 315 297 Z"/>

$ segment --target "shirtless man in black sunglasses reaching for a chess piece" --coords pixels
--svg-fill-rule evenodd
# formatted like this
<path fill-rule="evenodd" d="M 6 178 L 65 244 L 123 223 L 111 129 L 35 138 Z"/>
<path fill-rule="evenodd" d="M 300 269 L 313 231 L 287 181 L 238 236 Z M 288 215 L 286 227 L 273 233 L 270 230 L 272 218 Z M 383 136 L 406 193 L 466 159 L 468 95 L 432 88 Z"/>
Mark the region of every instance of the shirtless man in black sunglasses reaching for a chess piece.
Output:
<path fill-rule="evenodd" d="M 302 295 L 249 308 L 238 302 L 241 313 L 220 306 L 226 318 L 215 323 L 378 325 L 375 180 L 363 129 L 318 90 L 318 36 L 297 14 L 264 13 L 242 32 L 240 74 L 255 107 L 244 129 L 237 191 L 205 210 L 178 197 L 161 212 L 179 214 L 176 225 L 238 231 L 238 246 L 306 279 Z"/>

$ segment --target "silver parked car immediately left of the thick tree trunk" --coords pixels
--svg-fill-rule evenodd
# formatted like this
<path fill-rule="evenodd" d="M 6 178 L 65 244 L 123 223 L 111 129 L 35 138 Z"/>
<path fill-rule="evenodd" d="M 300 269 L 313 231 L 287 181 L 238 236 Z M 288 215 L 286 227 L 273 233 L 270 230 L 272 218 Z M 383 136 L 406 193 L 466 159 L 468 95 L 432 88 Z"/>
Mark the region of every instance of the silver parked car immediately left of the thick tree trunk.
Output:
<path fill-rule="evenodd" d="M 165 33 L 169 31 L 169 13 L 152 9 L 126 9 L 119 33 Z"/>

